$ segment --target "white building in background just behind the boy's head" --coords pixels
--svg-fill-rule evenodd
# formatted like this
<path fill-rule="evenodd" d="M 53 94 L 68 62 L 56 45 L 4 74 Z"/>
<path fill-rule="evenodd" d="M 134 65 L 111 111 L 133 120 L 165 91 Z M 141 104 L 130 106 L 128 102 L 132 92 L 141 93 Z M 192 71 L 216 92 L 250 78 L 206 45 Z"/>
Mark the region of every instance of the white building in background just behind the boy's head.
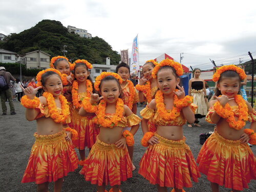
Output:
<path fill-rule="evenodd" d="M 91 77 L 95 81 L 95 78 L 99 76 L 102 72 L 116 72 L 116 66 L 110 65 L 110 57 L 106 57 L 106 64 L 93 64 L 93 69 L 91 69 Z"/>

